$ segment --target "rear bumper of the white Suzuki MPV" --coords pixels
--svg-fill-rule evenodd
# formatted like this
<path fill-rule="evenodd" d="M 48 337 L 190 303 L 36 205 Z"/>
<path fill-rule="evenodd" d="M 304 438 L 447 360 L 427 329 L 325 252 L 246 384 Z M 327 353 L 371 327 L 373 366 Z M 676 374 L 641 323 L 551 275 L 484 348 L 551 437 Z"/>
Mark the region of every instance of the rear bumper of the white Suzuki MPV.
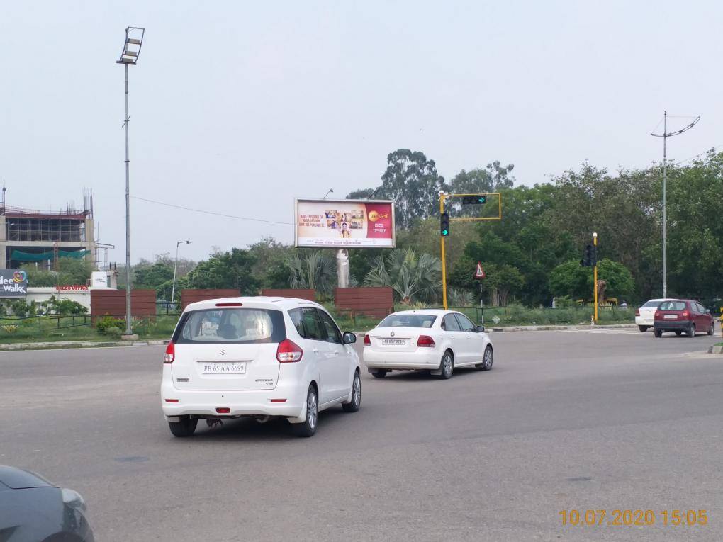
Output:
<path fill-rule="evenodd" d="M 165 416 L 285 416 L 298 418 L 304 413 L 307 387 L 278 384 L 274 390 L 207 391 L 176 390 L 163 380 L 161 384 L 161 409 Z M 168 403 L 177 399 L 178 403 Z M 283 402 L 272 400 L 285 399 Z M 228 408 L 218 413 L 216 408 Z"/>

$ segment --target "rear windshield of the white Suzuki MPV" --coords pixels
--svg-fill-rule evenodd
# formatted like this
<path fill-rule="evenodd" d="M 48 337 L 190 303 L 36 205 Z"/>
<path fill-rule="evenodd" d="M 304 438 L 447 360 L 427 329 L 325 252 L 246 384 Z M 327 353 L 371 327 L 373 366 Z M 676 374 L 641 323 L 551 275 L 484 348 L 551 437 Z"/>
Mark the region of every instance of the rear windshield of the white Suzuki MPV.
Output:
<path fill-rule="evenodd" d="M 281 343 L 283 313 L 268 309 L 204 309 L 181 317 L 174 343 Z"/>

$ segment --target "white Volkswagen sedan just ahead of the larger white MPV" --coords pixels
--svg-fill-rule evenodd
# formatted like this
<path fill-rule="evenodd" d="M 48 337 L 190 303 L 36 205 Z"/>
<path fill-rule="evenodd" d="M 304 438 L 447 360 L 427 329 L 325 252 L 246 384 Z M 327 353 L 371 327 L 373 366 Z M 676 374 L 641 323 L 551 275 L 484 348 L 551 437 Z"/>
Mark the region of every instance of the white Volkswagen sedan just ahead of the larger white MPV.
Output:
<path fill-rule="evenodd" d="M 413 369 L 448 379 L 455 367 L 489 371 L 493 357 L 484 327 L 455 311 L 395 312 L 364 336 L 364 364 L 376 378 Z"/>

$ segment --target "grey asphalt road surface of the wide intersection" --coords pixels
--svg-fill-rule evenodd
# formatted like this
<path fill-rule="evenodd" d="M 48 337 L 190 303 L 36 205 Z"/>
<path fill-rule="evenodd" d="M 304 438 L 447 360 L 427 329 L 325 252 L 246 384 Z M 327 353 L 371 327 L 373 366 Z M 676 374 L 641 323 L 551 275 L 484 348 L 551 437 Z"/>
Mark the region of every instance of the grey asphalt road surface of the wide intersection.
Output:
<path fill-rule="evenodd" d="M 723 539 L 719 337 L 493 340 L 489 372 L 364 373 L 359 413 L 322 413 L 312 439 L 246 421 L 174 439 L 160 347 L 0 353 L 0 463 L 80 491 L 98 541 Z M 563 509 L 657 519 L 562 526 Z"/>

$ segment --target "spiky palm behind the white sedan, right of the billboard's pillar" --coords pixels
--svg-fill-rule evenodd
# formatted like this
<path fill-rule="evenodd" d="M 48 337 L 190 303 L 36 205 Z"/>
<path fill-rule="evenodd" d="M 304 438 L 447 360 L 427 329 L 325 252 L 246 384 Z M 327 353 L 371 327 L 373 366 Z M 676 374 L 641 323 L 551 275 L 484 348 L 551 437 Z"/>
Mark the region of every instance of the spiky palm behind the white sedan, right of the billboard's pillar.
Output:
<path fill-rule="evenodd" d="M 413 249 L 391 251 L 373 260 L 364 278 L 365 286 L 389 286 L 403 304 L 432 301 L 442 288 L 442 264 L 431 254 L 417 255 Z"/>

